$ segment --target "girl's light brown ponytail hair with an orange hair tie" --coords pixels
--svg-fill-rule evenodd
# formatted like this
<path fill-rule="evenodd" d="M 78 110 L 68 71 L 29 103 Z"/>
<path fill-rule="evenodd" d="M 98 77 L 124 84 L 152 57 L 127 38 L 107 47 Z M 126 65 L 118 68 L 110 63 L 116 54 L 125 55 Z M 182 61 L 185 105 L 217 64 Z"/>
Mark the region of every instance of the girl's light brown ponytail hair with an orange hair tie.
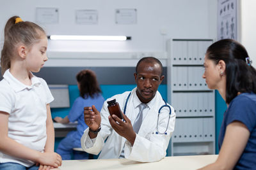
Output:
<path fill-rule="evenodd" d="M 19 16 L 11 17 L 4 27 L 4 45 L 1 51 L 1 73 L 11 67 L 11 59 L 15 56 L 15 48 L 19 43 L 31 46 L 35 41 L 46 36 L 39 25 L 22 21 Z"/>

